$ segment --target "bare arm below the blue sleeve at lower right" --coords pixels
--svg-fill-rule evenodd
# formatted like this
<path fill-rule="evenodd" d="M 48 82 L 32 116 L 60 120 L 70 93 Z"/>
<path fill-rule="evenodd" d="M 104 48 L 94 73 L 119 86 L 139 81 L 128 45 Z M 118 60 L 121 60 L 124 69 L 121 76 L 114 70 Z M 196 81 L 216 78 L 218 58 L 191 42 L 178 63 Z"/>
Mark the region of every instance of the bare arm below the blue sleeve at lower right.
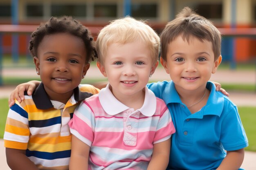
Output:
<path fill-rule="evenodd" d="M 227 156 L 216 170 L 238 170 L 243 163 L 245 150 L 227 151 Z"/>

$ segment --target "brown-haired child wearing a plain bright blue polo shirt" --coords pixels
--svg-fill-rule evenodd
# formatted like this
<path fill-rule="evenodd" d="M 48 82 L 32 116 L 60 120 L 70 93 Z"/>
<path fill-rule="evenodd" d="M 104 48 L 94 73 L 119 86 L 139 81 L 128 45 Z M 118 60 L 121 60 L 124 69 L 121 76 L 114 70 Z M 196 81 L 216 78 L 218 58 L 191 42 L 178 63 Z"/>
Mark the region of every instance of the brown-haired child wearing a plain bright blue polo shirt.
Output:
<path fill-rule="evenodd" d="M 160 62 L 172 82 L 148 88 L 164 99 L 176 128 L 168 169 L 238 170 L 245 130 L 236 105 L 208 82 L 221 62 L 220 32 L 185 7 L 166 25 L 161 43 Z"/>

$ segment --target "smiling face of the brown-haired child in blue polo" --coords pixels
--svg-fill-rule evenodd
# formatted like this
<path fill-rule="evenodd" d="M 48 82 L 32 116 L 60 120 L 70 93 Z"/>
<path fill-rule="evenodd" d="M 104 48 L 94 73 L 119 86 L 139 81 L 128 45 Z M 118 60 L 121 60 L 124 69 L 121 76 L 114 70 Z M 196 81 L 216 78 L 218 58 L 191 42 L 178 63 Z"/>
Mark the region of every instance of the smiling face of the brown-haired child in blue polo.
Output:
<path fill-rule="evenodd" d="M 166 73 L 170 74 L 177 91 L 204 89 L 211 73 L 216 72 L 218 61 L 214 61 L 211 42 L 201 42 L 195 37 L 187 42 L 182 36 L 178 36 L 168 45 L 166 61 L 161 58 L 161 63 Z"/>

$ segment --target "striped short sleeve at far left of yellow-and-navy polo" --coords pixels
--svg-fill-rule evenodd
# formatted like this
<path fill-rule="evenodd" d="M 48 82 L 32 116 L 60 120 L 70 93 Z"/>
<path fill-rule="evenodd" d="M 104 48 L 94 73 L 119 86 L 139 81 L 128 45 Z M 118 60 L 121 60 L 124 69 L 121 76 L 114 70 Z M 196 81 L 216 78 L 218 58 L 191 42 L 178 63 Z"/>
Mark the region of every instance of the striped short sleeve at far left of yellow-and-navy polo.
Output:
<path fill-rule="evenodd" d="M 16 101 L 7 115 L 4 130 L 4 147 L 26 150 L 30 135 L 28 124 L 27 111 Z"/>

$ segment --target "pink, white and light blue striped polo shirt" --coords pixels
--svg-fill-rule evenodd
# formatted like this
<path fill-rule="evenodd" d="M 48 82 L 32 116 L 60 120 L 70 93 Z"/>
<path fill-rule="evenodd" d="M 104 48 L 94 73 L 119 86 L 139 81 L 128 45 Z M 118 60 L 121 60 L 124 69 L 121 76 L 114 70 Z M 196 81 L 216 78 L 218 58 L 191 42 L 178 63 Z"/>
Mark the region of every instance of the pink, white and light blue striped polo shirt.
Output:
<path fill-rule="evenodd" d="M 109 86 L 76 108 L 70 132 L 90 146 L 88 170 L 146 170 L 153 145 L 175 132 L 169 110 L 147 87 L 143 106 L 134 110 Z"/>

